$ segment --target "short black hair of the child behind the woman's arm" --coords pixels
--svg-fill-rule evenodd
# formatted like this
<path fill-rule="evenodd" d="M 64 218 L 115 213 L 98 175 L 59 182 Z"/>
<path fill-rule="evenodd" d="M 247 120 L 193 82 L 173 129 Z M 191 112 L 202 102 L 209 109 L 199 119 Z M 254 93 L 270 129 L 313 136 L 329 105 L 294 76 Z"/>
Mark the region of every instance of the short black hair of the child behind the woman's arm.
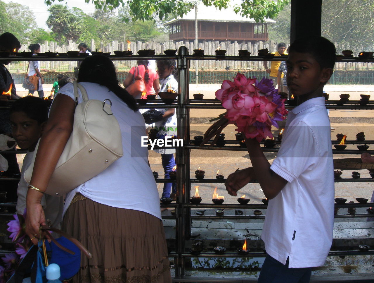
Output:
<path fill-rule="evenodd" d="M 26 96 L 17 99 L 10 106 L 10 114 L 24 112 L 29 118 L 38 121 L 39 125 L 48 120 L 48 106 L 46 100 L 36 96 Z"/>

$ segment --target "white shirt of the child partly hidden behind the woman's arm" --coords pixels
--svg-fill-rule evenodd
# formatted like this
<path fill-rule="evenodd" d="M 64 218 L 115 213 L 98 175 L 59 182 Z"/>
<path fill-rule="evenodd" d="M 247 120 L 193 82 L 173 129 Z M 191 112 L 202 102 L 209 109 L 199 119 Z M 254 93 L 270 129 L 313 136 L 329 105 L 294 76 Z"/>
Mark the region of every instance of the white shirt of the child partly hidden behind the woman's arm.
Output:
<path fill-rule="evenodd" d="M 22 176 L 19 180 L 17 188 L 17 205 L 16 210 L 18 214 L 23 214 L 26 208 L 26 195 L 27 195 L 27 186 L 29 183 L 26 182 L 23 178 L 23 173 L 30 166 L 33 159 L 35 151 L 27 151 L 27 154 L 24 157 L 22 162 Z M 43 195 L 41 204 L 43 206 L 44 214 L 46 220 L 52 222 L 52 227 L 59 229 L 61 226 L 62 220 L 62 210 L 64 208 L 64 197 L 63 196 L 50 196 Z"/>

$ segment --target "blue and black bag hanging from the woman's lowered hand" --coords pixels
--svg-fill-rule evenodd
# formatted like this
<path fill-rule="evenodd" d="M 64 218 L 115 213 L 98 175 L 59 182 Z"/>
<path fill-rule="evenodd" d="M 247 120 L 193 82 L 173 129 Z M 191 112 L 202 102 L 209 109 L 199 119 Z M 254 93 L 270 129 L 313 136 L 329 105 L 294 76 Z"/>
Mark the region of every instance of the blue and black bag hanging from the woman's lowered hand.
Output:
<path fill-rule="evenodd" d="M 15 273 L 7 283 L 22 283 L 25 277 L 31 277 L 31 282 L 43 283 L 46 277 L 46 267 L 49 264 L 58 264 L 61 271 L 61 282 L 68 282 L 80 269 L 81 251 L 92 258 L 91 253 L 75 238 L 59 229 L 49 226 L 40 228 L 52 240 L 50 243 L 40 238 L 38 246 L 32 246 L 20 262 Z M 62 235 L 57 239 L 50 235 L 53 231 Z"/>

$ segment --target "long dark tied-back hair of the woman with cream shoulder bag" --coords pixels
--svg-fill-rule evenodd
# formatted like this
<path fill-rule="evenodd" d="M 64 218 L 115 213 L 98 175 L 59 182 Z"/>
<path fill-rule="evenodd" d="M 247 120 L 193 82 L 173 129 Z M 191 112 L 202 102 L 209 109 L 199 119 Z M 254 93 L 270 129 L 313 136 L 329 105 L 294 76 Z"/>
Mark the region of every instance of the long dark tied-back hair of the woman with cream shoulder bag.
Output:
<path fill-rule="evenodd" d="M 132 110 L 137 111 L 138 105 L 133 96 L 127 90 L 120 87 L 117 79 L 116 68 L 113 62 L 106 56 L 93 55 L 86 57 L 79 67 L 78 82 L 94 82 L 104 85 L 113 91 Z"/>

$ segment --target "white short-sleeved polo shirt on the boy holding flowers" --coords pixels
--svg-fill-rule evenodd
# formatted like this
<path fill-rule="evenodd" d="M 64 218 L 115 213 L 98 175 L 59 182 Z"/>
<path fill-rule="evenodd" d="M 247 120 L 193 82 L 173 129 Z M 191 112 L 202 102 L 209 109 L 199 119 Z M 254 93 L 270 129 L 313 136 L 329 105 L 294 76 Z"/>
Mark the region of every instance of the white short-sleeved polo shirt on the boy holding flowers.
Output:
<path fill-rule="evenodd" d="M 270 169 L 288 183 L 269 201 L 261 235 L 266 252 L 282 264 L 289 256 L 290 268 L 323 265 L 334 227 L 334 166 L 323 97 L 289 112 Z"/>

